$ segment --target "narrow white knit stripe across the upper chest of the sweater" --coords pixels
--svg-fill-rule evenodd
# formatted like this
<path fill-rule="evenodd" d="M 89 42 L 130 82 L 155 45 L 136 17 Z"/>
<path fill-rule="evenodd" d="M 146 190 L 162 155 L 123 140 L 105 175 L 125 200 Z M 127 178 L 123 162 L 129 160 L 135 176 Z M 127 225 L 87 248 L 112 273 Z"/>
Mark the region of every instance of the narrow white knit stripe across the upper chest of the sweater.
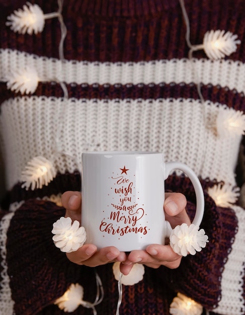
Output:
<path fill-rule="evenodd" d="M 197 83 L 189 59 L 151 60 L 140 62 L 88 62 L 39 57 L 26 52 L 0 49 L 1 80 L 22 70 L 34 67 L 40 81 L 58 81 L 67 84 L 170 84 Z M 205 85 L 245 92 L 245 64 L 232 60 L 193 59 L 199 81 Z"/>

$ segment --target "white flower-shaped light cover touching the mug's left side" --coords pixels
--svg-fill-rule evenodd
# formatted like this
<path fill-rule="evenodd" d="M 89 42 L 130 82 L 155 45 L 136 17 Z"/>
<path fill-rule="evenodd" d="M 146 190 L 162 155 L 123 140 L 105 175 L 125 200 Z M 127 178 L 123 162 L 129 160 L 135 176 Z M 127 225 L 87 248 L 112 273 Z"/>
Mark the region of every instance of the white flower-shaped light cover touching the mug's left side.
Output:
<path fill-rule="evenodd" d="M 82 247 L 86 241 L 86 231 L 79 222 L 71 222 L 71 218 L 61 217 L 53 223 L 54 244 L 61 252 L 71 253 Z"/>

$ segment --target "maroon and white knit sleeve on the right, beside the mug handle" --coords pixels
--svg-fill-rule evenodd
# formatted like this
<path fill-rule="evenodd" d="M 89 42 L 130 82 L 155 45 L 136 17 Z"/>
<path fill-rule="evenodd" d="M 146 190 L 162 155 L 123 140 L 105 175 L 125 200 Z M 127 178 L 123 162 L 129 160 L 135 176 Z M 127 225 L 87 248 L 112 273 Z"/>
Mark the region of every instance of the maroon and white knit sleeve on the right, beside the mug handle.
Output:
<path fill-rule="evenodd" d="M 195 194 L 182 179 L 187 210 L 195 213 Z M 182 259 L 176 270 L 161 276 L 176 292 L 183 293 L 218 314 L 244 313 L 245 211 L 231 205 L 219 207 L 205 190 L 205 212 L 200 228 L 209 238 L 206 248 Z"/>

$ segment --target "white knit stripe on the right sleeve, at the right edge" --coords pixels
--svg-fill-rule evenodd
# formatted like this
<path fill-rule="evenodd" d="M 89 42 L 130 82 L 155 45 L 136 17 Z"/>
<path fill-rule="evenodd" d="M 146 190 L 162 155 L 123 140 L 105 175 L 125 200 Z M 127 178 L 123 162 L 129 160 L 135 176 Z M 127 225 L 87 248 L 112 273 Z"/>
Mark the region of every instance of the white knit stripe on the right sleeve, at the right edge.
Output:
<path fill-rule="evenodd" d="M 243 263 L 245 261 L 245 211 L 238 206 L 232 208 L 238 220 L 237 233 L 222 272 L 221 299 L 213 311 L 224 315 L 243 315 L 245 301 L 242 297 L 244 283 L 241 279 L 244 277 L 245 268 Z"/>

